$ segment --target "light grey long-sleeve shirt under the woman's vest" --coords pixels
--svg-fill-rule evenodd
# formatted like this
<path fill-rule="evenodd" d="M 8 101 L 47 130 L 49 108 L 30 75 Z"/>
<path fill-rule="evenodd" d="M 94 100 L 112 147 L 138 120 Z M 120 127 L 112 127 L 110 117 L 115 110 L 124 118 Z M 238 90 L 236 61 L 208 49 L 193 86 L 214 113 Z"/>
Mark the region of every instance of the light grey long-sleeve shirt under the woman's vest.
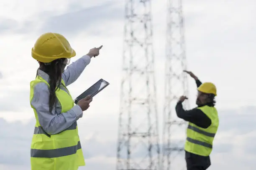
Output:
<path fill-rule="evenodd" d="M 68 86 L 77 80 L 90 61 L 91 58 L 88 55 L 84 55 L 67 66 L 67 69 L 62 74 L 62 79 L 64 80 L 65 85 Z M 49 83 L 49 75 L 45 72 L 38 70 L 38 75 Z M 61 90 L 67 92 L 62 85 Z M 49 95 L 49 86 L 44 82 L 37 83 L 34 87 L 34 95 L 31 100 L 31 105 L 36 110 L 38 121 L 44 131 L 49 135 L 54 135 L 73 125 L 80 117 L 82 117 L 83 112 L 81 107 L 74 105 L 74 107 L 65 112 L 65 114 L 61 114 L 59 100 L 56 102 L 56 108 L 54 108 L 52 112 L 49 112 Z"/>

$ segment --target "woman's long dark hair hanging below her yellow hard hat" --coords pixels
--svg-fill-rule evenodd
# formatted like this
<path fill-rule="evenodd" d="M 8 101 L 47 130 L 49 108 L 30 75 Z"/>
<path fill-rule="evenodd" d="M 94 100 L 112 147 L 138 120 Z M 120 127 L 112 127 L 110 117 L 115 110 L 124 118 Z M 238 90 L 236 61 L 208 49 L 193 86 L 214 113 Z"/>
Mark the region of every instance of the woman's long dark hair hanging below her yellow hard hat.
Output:
<path fill-rule="evenodd" d="M 64 67 L 64 58 L 54 60 L 50 63 L 39 62 L 40 66 L 38 70 L 42 70 L 49 75 L 49 85 L 50 85 L 50 96 L 49 96 L 49 111 L 51 112 L 56 106 L 56 90 L 60 88 L 61 85 L 61 75 Z M 37 74 L 38 75 L 38 72 Z"/>

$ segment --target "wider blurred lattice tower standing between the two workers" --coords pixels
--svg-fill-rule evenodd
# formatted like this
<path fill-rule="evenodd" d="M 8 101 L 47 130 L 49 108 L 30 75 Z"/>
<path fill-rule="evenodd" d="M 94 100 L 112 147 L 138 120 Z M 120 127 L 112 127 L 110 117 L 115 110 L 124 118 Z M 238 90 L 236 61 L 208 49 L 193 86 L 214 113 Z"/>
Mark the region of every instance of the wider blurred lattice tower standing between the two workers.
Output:
<path fill-rule="evenodd" d="M 117 170 L 159 170 L 151 0 L 125 1 Z"/>

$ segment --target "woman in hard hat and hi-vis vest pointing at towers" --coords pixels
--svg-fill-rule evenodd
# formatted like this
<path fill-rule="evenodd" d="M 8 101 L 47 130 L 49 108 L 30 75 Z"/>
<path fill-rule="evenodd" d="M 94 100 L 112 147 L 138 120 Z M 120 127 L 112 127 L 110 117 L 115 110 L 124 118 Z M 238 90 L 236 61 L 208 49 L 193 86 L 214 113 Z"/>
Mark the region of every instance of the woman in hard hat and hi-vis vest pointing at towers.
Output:
<path fill-rule="evenodd" d="M 38 61 L 36 80 L 31 81 L 30 104 L 36 117 L 31 143 L 31 170 L 77 170 L 84 166 L 84 157 L 77 129 L 77 120 L 90 107 L 90 96 L 77 105 L 67 89 L 102 46 L 69 64 L 76 52 L 68 40 L 58 33 L 41 35 L 32 48 Z"/>

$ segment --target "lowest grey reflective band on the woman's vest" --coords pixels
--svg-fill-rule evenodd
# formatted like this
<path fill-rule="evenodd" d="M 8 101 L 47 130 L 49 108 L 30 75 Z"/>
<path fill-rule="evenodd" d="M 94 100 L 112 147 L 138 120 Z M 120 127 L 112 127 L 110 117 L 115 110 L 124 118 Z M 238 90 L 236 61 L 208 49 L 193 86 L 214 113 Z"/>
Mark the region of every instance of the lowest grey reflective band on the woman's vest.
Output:
<path fill-rule="evenodd" d="M 51 149 L 51 150 L 42 150 L 42 149 L 31 149 L 30 154 L 33 158 L 58 158 L 61 156 L 68 156 L 77 153 L 77 150 L 81 149 L 80 141 L 77 145 L 59 148 L 59 149 Z"/>

